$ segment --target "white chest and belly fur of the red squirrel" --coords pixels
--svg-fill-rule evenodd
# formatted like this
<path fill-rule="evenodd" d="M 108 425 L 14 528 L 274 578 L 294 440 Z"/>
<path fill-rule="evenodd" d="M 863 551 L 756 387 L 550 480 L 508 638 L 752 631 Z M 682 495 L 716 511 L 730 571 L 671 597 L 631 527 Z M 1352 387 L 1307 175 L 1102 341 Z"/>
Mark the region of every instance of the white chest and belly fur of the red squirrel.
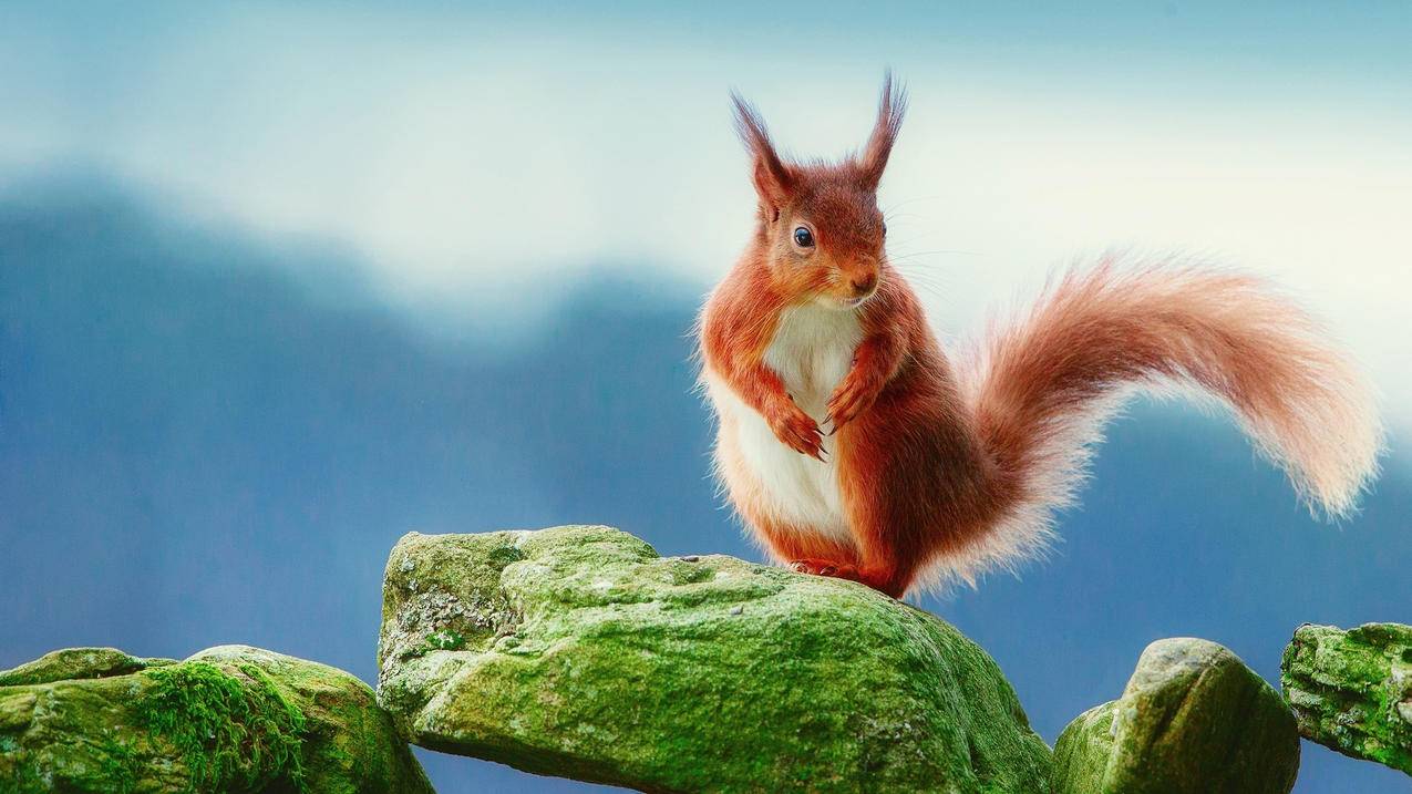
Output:
<path fill-rule="evenodd" d="M 806 414 L 822 422 L 829 397 L 849 373 L 853 352 L 863 339 L 854 311 L 799 307 L 785 312 L 765 350 L 765 365 L 785 381 L 785 389 Z M 764 507 L 778 519 L 840 540 L 849 524 L 839 494 L 834 442 L 825 437 L 826 461 L 815 461 L 785 446 L 764 417 L 747 407 L 714 376 L 707 386 L 722 414 L 723 438 L 754 479 Z"/>

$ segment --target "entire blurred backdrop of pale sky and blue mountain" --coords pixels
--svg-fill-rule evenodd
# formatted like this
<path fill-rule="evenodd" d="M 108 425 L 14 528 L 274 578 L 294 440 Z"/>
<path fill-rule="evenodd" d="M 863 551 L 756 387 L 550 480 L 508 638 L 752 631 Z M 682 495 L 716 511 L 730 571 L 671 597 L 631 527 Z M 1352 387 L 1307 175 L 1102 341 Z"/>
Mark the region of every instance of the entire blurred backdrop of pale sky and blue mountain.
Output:
<path fill-rule="evenodd" d="M 1053 742 L 1144 646 L 1278 682 L 1412 622 L 1412 6 L 0 7 L 0 668 L 249 643 L 374 681 L 405 531 L 606 523 L 758 558 L 690 325 L 750 233 L 738 88 L 796 153 L 912 113 L 891 251 L 945 339 L 1108 247 L 1269 274 L 1384 393 L 1313 521 L 1233 424 L 1138 403 L 1046 562 L 922 599 Z M 419 752 L 443 791 L 578 791 Z M 1300 794 L 1406 777 L 1305 743 Z"/>

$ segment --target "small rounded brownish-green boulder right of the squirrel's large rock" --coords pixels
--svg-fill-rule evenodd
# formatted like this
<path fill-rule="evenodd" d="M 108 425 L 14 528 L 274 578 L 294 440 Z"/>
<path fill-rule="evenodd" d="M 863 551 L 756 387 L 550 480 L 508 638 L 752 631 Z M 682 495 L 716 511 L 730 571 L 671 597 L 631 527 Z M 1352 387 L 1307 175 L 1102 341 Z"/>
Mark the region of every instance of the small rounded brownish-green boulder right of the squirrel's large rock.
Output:
<path fill-rule="evenodd" d="M 1299 773 L 1289 706 L 1236 654 L 1158 640 L 1123 697 L 1065 728 L 1055 794 L 1286 794 Z"/>

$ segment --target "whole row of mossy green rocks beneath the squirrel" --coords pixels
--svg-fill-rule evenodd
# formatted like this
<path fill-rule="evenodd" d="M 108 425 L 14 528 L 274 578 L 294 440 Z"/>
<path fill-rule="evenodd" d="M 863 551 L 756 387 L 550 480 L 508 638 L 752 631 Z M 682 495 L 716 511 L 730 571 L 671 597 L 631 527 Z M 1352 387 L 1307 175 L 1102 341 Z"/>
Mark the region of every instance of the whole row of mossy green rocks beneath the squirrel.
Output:
<path fill-rule="evenodd" d="M 431 794 L 408 737 L 654 793 L 1288 794 L 1300 733 L 1412 774 L 1409 626 L 1302 626 L 1288 701 L 1216 643 L 1159 640 L 1051 754 L 943 620 L 609 527 L 405 535 L 378 665 L 374 697 L 246 646 L 54 651 L 0 671 L 0 791 Z"/>

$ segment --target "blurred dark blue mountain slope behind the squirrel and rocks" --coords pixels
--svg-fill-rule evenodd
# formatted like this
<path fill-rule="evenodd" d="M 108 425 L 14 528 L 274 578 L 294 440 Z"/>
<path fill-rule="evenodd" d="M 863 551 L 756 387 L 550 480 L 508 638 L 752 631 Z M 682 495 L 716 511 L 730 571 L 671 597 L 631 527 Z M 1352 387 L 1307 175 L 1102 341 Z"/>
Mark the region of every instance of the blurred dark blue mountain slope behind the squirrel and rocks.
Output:
<path fill-rule="evenodd" d="M 240 641 L 371 681 L 383 564 L 409 530 L 593 521 L 754 555 L 707 479 L 689 301 L 583 284 L 518 340 L 449 342 L 360 271 L 100 182 L 0 203 L 0 667 Z M 995 656 L 1051 742 L 1158 637 L 1275 680 L 1300 622 L 1412 622 L 1412 478 L 1388 469 L 1358 519 L 1320 526 L 1228 422 L 1142 405 L 1048 562 L 923 603 Z M 1405 787 L 1305 750 L 1296 791 Z M 422 757 L 446 791 L 583 788 Z"/>

